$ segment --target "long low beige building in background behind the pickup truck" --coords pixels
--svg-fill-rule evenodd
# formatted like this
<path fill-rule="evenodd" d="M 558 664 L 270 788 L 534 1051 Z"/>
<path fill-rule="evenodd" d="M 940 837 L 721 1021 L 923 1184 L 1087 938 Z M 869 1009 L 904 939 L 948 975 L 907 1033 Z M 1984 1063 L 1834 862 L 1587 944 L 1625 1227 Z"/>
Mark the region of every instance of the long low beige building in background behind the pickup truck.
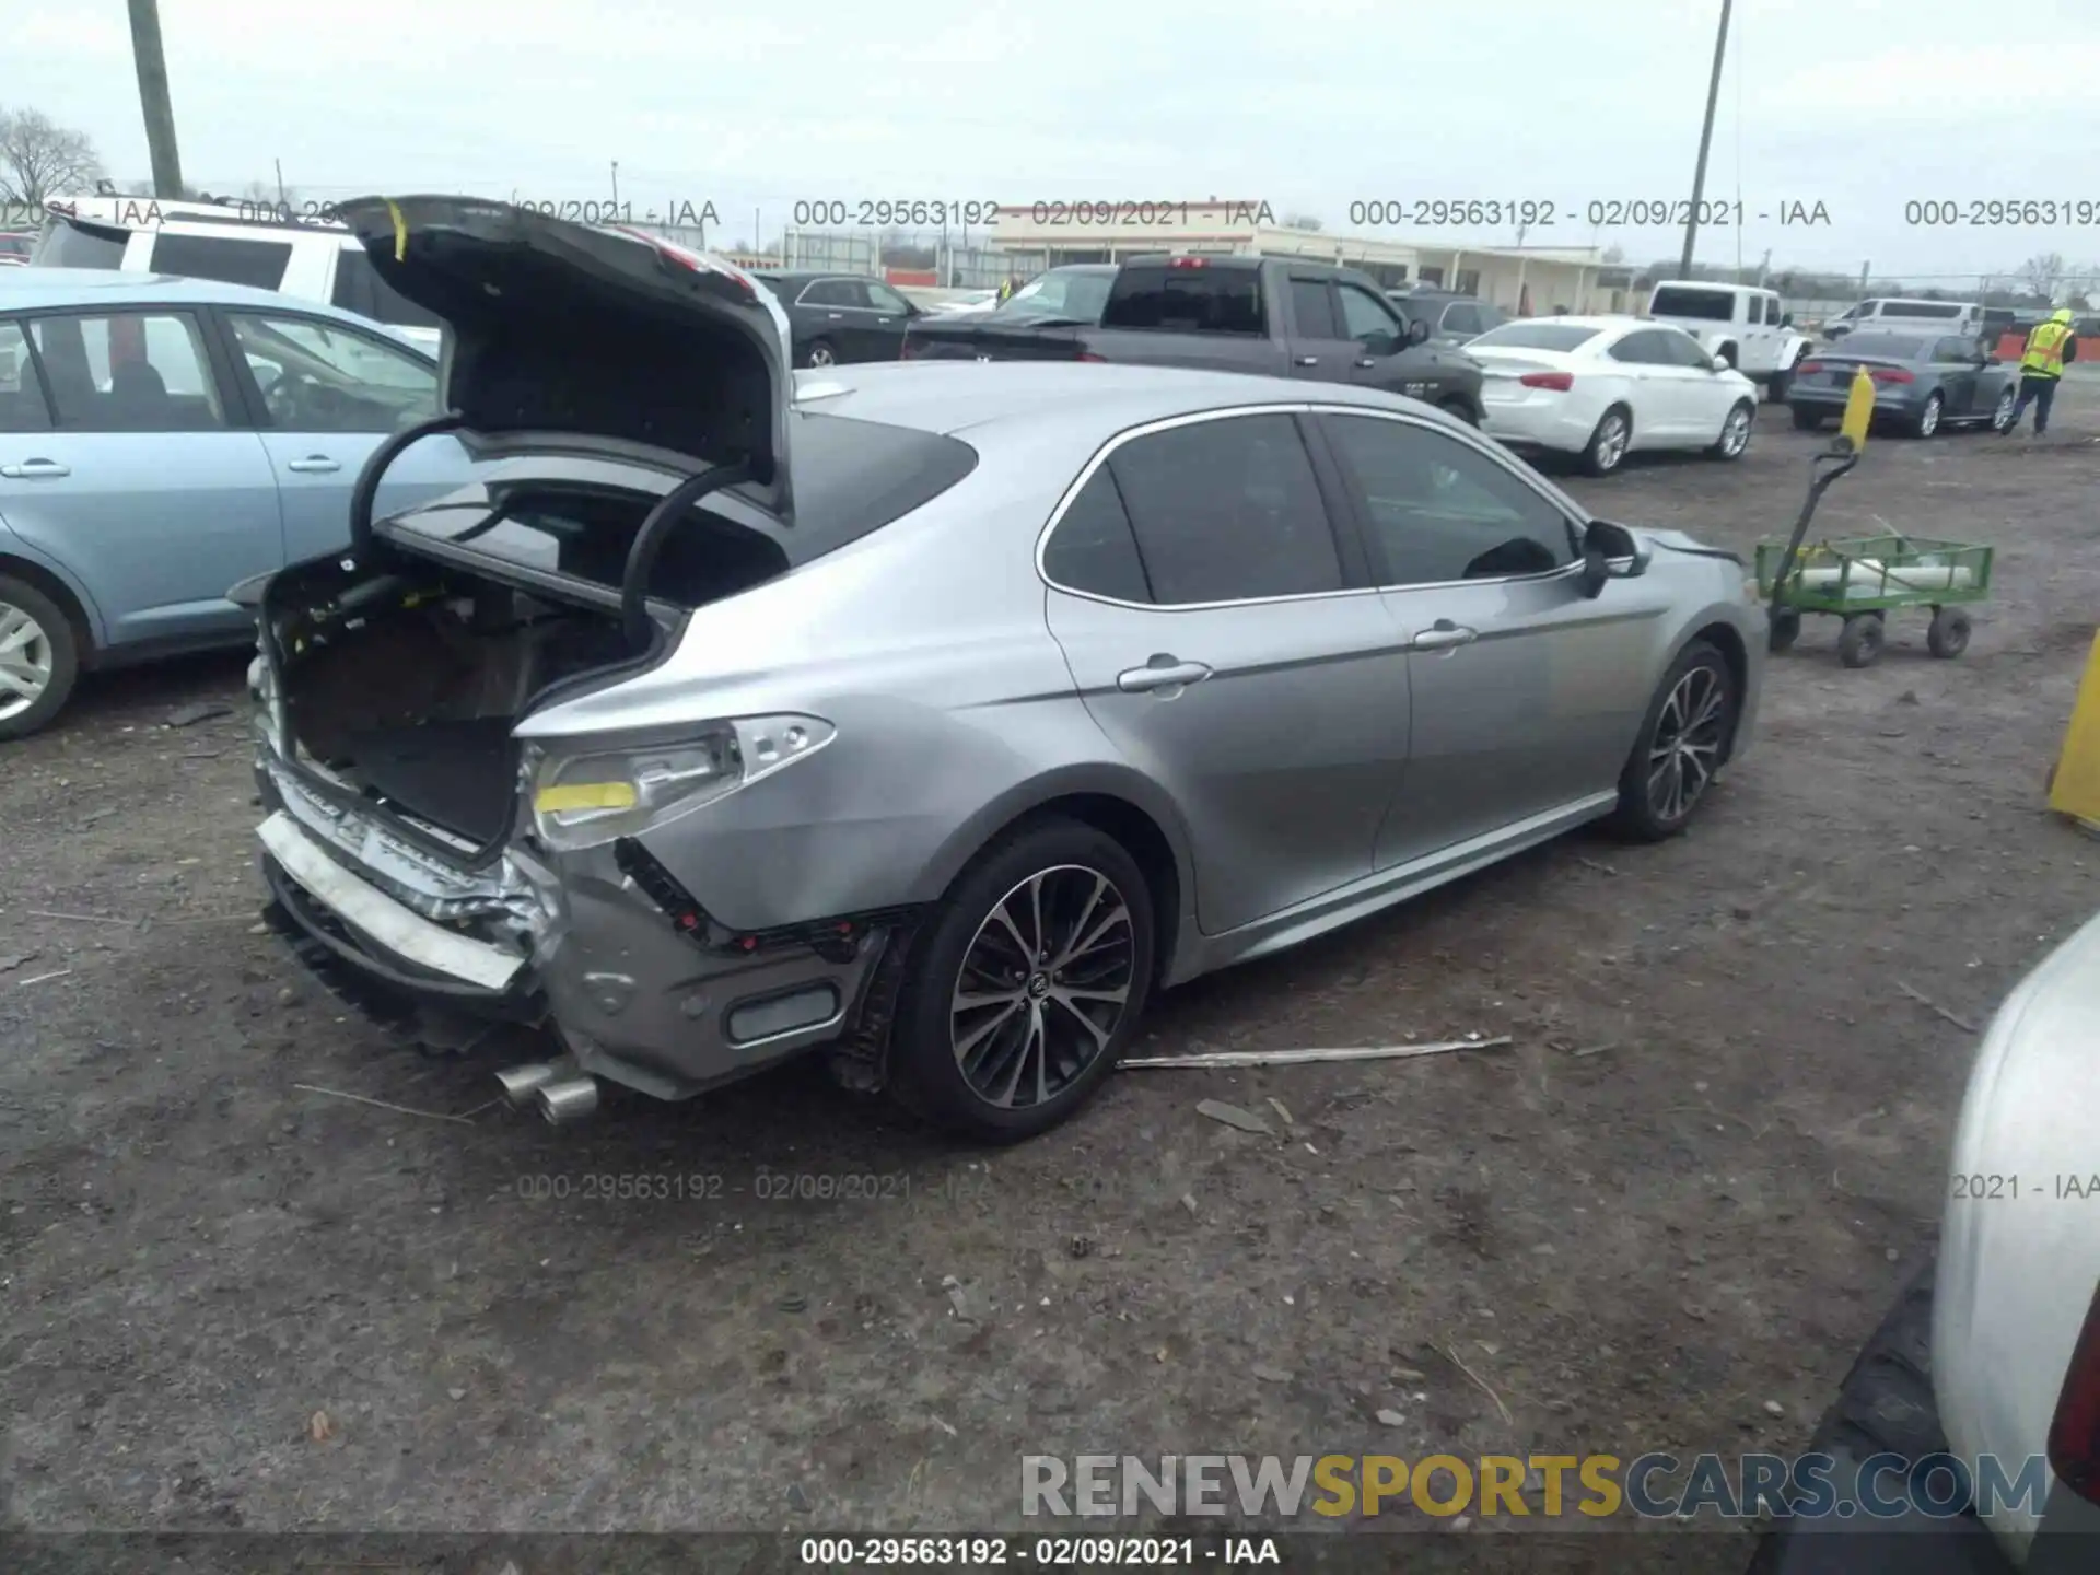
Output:
<path fill-rule="evenodd" d="M 1037 202 L 1002 208 L 991 244 L 1010 252 L 1021 273 L 1144 252 L 1304 256 L 1361 269 L 1388 290 L 1409 284 L 1457 290 L 1508 313 L 1638 311 L 1625 271 L 1609 267 L 1596 248 L 1331 235 L 1279 225 L 1266 202 Z"/>

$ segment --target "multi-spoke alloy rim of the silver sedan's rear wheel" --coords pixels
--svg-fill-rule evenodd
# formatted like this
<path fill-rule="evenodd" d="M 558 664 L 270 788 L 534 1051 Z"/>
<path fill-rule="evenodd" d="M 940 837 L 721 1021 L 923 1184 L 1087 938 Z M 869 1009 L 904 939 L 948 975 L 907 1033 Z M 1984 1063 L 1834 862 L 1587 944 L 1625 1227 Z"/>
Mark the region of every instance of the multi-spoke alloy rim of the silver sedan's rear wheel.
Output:
<path fill-rule="evenodd" d="M 1056 1098 L 1098 1060 L 1136 983 L 1130 903 L 1086 865 L 1008 890 L 962 953 L 949 1044 L 962 1079 L 1006 1109 Z"/>

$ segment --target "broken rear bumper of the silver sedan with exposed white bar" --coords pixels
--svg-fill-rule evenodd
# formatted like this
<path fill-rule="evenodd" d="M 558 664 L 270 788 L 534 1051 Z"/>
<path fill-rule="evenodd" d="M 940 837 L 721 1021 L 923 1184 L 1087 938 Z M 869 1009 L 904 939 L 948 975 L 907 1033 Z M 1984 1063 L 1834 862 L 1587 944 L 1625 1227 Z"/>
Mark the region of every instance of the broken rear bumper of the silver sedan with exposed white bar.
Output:
<path fill-rule="evenodd" d="M 504 855 L 502 878 L 489 878 L 508 892 L 502 914 L 437 922 L 386 890 L 340 834 L 304 823 L 284 771 L 265 760 L 256 773 L 269 920 L 323 983 L 380 1018 L 544 1021 L 584 1071 L 657 1098 L 838 1040 L 888 939 L 861 928 L 823 953 L 766 939 L 724 956 L 682 934 L 611 846 Z M 443 901 L 460 901 L 458 890 Z"/>

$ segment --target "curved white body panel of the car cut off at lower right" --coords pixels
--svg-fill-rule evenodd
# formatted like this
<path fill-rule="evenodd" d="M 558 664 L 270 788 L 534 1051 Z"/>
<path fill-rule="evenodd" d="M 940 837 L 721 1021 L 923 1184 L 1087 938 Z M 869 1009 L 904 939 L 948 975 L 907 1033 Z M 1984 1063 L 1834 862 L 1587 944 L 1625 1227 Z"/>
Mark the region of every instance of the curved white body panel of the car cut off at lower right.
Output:
<path fill-rule="evenodd" d="M 1932 1308 L 1932 1386 L 1964 1460 L 2016 1474 L 2048 1453 L 2050 1418 L 2100 1283 L 2100 916 L 1991 1018 L 1955 1126 Z M 1989 1178 L 2001 1178 L 1991 1182 Z M 1978 1180 L 1982 1178 L 1982 1180 Z M 2077 1193 L 2058 1189 L 2075 1178 Z M 2010 1191 L 2016 1189 L 2016 1191 Z M 2033 1531 L 2001 1510 L 2016 1548 Z"/>

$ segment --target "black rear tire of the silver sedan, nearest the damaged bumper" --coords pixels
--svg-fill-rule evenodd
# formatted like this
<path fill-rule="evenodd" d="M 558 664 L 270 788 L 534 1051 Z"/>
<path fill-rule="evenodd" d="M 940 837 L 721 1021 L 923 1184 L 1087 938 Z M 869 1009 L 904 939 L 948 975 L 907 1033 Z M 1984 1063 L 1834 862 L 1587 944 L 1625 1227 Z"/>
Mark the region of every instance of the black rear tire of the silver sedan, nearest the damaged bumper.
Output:
<path fill-rule="evenodd" d="M 1050 903 L 1044 928 L 1052 934 L 1067 924 L 1100 922 L 1075 918 L 1082 905 L 1098 895 L 1086 876 L 1105 878 L 1109 890 L 1124 899 L 1128 930 L 1128 943 L 1121 945 L 1121 966 L 1113 966 L 1117 964 L 1117 956 L 1113 956 L 1117 953 L 1115 930 L 1092 949 L 1111 964 L 1111 970 L 1094 981 L 1096 985 L 1115 989 L 1115 981 L 1126 981 L 1121 1014 L 1113 1018 L 1107 1042 L 1096 1046 L 1088 1044 L 1088 1035 L 1075 1023 L 1075 1008 L 1054 995 L 1056 974 L 1050 968 L 1037 968 L 1042 958 L 1023 958 L 1000 928 L 987 930 L 987 926 L 995 926 L 995 909 L 1010 897 L 1025 892 L 1031 880 L 1044 882 L 1042 892 Z M 1021 928 L 1029 928 L 1031 922 L 1023 922 Z M 981 943 L 981 930 L 987 930 L 983 945 L 989 951 L 972 951 Z M 1037 821 L 995 842 L 949 886 L 947 897 L 941 899 L 914 945 L 890 1044 L 890 1088 L 897 1100 L 937 1126 L 987 1142 L 1018 1142 L 1048 1132 L 1092 1098 L 1144 1016 L 1153 976 L 1153 899 L 1144 884 L 1144 872 L 1107 832 L 1060 817 Z M 1042 1069 L 1044 1082 L 1040 1086 L 1048 1086 L 1052 1063 L 1063 1063 L 1056 1067 L 1063 1073 L 1063 1086 L 1050 1090 L 1048 1098 L 1031 1102 L 987 1098 L 972 1086 L 956 1048 L 958 1012 L 953 1000 L 966 976 L 964 962 L 974 964 L 970 979 L 987 983 L 989 970 L 983 960 L 989 956 L 1004 962 L 1008 953 L 1031 970 L 1023 979 L 1018 968 L 1010 968 L 1006 970 L 1008 979 L 1002 979 L 1012 989 L 1010 1004 L 1029 1012 L 1029 1016 L 1018 1018 L 1023 1033 L 1018 1037 L 1006 1033 L 1004 1025 L 1016 1021 L 1012 1012 L 993 1016 L 1002 1004 L 998 995 L 987 1006 L 964 1008 L 983 1016 L 968 1018 L 960 1027 L 966 1046 L 972 1035 L 989 1033 L 981 1040 L 987 1048 L 981 1052 L 974 1073 L 998 1084 L 1006 1069 L 1014 1069 L 1016 1084 L 1008 1090 L 1014 1096 L 1023 1092 L 1018 1082 L 1025 1082 L 1031 1065 Z M 993 1021 L 1002 1027 L 987 1031 Z M 1031 1021 L 1042 1025 L 1040 1037 L 1029 1031 Z M 1063 1037 L 1063 1052 L 1058 1037 Z M 1092 1037 L 1100 1037 L 1098 1023 L 1094 1023 Z M 1004 1050 L 1002 1042 L 1010 1044 L 1012 1050 Z M 1031 1048 L 1035 1048 L 1033 1058 Z"/>

